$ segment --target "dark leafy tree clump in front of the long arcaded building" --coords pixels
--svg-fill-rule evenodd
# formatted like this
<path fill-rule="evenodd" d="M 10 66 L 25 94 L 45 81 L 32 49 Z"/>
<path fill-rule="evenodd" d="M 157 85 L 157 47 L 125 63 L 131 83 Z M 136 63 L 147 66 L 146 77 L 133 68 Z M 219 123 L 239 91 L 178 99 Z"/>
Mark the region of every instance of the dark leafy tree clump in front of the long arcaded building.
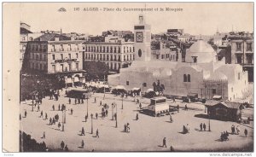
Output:
<path fill-rule="evenodd" d="M 84 70 L 89 80 L 104 79 L 108 75 L 108 66 L 102 61 L 84 61 Z"/>

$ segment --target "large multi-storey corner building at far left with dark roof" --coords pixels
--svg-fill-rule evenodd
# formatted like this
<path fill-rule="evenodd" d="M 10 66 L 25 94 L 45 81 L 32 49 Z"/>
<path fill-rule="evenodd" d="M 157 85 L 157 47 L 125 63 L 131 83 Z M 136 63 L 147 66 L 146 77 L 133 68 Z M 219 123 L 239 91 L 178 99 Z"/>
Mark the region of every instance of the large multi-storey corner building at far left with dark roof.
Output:
<path fill-rule="evenodd" d="M 70 86 L 84 82 L 82 43 L 60 34 L 45 33 L 27 43 L 26 69 L 58 74 Z"/>

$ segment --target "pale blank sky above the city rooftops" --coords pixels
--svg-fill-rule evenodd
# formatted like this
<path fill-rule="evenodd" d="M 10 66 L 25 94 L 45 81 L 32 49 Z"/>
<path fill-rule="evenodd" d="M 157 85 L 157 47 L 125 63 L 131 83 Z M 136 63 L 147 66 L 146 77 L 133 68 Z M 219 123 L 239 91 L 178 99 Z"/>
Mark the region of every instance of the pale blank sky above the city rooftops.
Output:
<path fill-rule="evenodd" d="M 67 12 L 58 12 L 61 7 Z M 114 11 L 83 11 L 84 8 Z M 183 11 L 124 11 L 124 8 L 183 9 Z M 79 8 L 79 11 L 74 11 Z M 121 11 L 116 11 L 119 8 Z M 192 35 L 253 32 L 253 3 L 20 3 L 20 20 L 32 32 L 53 30 L 101 35 L 107 30 L 133 31 L 143 14 L 152 33 L 182 28 Z"/>

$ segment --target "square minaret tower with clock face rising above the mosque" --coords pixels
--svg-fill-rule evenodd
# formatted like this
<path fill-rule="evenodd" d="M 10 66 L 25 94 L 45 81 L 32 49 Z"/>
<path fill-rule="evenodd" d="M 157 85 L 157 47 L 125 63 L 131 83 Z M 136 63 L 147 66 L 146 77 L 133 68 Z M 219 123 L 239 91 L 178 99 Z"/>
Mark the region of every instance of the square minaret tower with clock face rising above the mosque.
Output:
<path fill-rule="evenodd" d="M 139 15 L 139 24 L 134 26 L 135 61 L 151 60 L 151 26 Z"/>

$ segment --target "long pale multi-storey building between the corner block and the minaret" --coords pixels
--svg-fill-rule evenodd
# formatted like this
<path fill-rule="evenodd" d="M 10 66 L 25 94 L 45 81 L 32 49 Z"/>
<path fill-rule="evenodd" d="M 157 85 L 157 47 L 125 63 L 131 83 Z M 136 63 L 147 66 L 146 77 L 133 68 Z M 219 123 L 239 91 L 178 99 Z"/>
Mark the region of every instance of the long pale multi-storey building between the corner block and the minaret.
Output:
<path fill-rule="evenodd" d="M 119 72 L 120 68 L 130 66 L 131 61 L 134 60 L 134 43 L 118 40 L 118 38 L 108 38 L 107 41 L 84 42 L 83 60 L 103 61 L 113 72 Z"/>

